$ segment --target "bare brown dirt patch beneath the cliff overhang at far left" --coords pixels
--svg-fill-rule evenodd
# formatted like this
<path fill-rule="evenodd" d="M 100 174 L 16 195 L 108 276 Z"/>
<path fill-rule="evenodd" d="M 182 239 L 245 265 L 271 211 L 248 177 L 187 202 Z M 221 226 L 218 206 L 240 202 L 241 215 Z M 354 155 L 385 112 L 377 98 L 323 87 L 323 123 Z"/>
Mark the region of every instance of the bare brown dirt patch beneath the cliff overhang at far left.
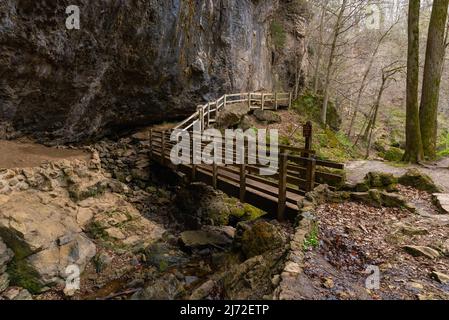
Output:
<path fill-rule="evenodd" d="M 80 150 L 49 148 L 35 143 L 0 140 L 0 169 L 37 167 L 43 161 L 88 160 L 90 154 Z"/>

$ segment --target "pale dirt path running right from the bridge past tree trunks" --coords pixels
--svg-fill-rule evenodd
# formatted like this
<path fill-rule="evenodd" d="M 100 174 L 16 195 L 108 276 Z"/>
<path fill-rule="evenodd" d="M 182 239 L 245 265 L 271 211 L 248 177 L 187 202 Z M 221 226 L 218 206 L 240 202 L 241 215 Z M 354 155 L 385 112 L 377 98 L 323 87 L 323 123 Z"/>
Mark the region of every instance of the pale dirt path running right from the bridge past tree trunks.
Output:
<path fill-rule="evenodd" d="M 368 172 L 379 171 L 401 176 L 410 168 L 417 168 L 421 172 L 429 175 L 437 185 L 443 188 L 444 192 L 449 192 L 449 158 L 445 158 L 432 165 L 410 165 L 403 167 L 392 166 L 387 162 L 376 160 L 351 161 L 346 164 L 346 174 L 348 182 L 358 183 L 363 180 Z"/>

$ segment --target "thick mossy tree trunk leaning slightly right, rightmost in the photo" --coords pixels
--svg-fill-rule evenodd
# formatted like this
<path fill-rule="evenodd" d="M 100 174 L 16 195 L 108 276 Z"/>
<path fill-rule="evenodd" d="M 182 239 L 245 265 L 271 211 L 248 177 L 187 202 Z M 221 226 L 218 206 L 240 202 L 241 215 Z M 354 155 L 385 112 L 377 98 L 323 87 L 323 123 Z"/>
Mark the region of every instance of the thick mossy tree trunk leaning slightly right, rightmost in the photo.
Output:
<path fill-rule="evenodd" d="M 426 62 L 419 109 L 424 156 L 436 158 L 437 114 L 445 54 L 445 29 L 449 0 L 434 0 L 427 37 Z"/>

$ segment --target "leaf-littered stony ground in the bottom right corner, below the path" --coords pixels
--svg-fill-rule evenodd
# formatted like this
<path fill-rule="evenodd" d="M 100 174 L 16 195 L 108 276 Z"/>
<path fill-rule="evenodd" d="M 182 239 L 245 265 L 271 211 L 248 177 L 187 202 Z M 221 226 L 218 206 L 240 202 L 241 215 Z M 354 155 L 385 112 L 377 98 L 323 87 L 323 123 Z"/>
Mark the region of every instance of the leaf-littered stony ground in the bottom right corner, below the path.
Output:
<path fill-rule="evenodd" d="M 301 296 L 307 299 L 448 299 L 449 285 L 434 272 L 449 272 L 449 217 L 438 214 L 426 192 L 400 186 L 412 213 L 360 203 L 319 207 L 320 245 L 305 254 Z M 437 257 L 415 257 L 405 246 L 425 246 Z M 366 289 L 368 266 L 379 268 L 378 289 Z"/>

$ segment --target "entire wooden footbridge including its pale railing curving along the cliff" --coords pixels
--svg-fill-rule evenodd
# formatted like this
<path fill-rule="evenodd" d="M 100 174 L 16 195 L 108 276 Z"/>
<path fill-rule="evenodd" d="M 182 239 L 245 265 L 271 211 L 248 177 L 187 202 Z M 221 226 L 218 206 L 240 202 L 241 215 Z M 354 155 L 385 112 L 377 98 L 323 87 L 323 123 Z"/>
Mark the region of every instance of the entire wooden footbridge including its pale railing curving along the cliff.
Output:
<path fill-rule="evenodd" d="M 150 156 L 153 161 L 167 166 L 189 179 L 191 182 L 204 182 L 221 190 L 229 196 L 239 198 L 241 202 L 249 203 L 258 207 L 268 214 L 277 213 L 279 220 L 294 217 L 298 213 L 298 201 L 304 195 L 312 191 L 317 185 L 326 183 L 331 188 L 343 182 L 341 170 L 344 165 L 331 161 L 323 161 L 315 158 L 315 151 L 312 146 L 312 125 L 307 123 L 304 126 L 305 145 L 303 148 L 279 145 L 277 153 L 274 154 L 278 160 L 278 168 L 270 176 L 260 175 L 260 170 L 264 167 L 260 160 L 272 160 L 273 154 L 269 157 L 259 157 L 248 152 L 247 143 L 240 149 L 234 140 L 222 141 L 219 149 L 222 150 L 222 158 L 229 158 L 232 155 L 234 164 L 193 164 L 198 150 L 195 148 L 194 140 L 198 136 L 192 129 L 201 128 L 201 131 L 210 127 L 218 120 L 220 112 L 230 104 L 244 104 L 248 106 L 248 111 L 254 109 L 277 110 L 291 105 L 291 94 L 289 93 L 243 93 L 225 95 L 217 101 L 199 106 L 197 111 L 188 119 L 170 130 L 150 130 Z M 176 131 L 174 131 L 176 130 Z M 174 165 L 170 155 L 172 149 L 178 141 L 171 141 L 173 132 L 190 132 L 188 147 L 191 150 L 190 161 Z M 198 135 L 198 134 L 197 134 Z M 211 142 L 200 141 L 201 150 Z M 185 141 L 184 141 L 185 143 Z M 216 143 L 216 142 L 214 142 Z M 241 154 L 244 154 L 242 157 Z M 257 153 L 256 153 L 257 154 Z M 265 154 L 262 152 L 262 154 Z M 242 164 L 237 158 L 244 159 Z M 253 164 L 256 163 L 256 164 Z"/>

